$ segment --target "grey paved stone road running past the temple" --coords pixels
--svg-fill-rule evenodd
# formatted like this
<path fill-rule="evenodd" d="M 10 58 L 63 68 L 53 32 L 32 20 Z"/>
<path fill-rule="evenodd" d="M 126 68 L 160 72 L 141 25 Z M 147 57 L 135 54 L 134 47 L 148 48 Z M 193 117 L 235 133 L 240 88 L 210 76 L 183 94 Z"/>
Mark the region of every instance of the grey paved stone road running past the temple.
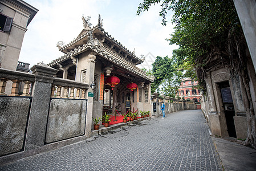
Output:
<path fill-rule="evenodd" d="M 221 170 L 201 111 L 180 111 L 0 166 L 0 170 Z"/>

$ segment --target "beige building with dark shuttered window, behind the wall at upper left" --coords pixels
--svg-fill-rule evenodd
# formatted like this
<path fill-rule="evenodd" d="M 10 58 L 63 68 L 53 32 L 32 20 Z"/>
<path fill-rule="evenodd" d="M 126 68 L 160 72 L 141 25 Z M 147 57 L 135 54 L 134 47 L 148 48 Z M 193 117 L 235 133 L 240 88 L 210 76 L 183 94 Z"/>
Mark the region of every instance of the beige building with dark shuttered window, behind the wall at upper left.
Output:
<path fill-rule="evenodd" d="M 0 1 L 0 68 L 16 70 L 27 26 L 37 12 L 21 0 Z"/>

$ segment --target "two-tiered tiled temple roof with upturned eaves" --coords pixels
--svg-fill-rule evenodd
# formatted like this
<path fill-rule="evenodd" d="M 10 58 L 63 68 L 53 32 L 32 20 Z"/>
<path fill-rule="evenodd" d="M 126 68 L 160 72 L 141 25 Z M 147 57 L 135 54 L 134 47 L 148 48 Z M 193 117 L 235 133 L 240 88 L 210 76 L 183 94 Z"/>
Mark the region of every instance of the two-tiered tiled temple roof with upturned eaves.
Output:
<path fill-rule="evenodd" d="M 103 40 L 93 38 L 93 34 L 100 34 L 101 36 L 104 36 L 104 38 Z M 108 40 L 106 40 L 106 38 Z M 118 46 L 120 48 L 118 54 L 121 55 L 118 55 L 115 52 L 112 52 L 111 49 L 103 46 L 103 42 L 109 40 L 112 41 L 112 48 L 113 46 Z M 68 48 L 70 49 L 68 50 Z M 51 63 L 48 64 L 48 66 L 55 66 L 58 63 L 63 62 L 67 59 L 71 59 L 73 61 L 73 64 L 76 64 L 75 56 L 87 50 L 95 51 L 97 55 L 119 65 L 120 67 L 128 71 L 131 71 L 133 74 L 136 74 L 141 78 L 149 80 L 150 82 L 153 82 L 155 79 L 154 76 L 147 76 L 145 71 L 136 67 L 136 64 L 143 63 L 144 58 L 138 58 L 135 54 L 125 48 L 125 46 L 123 46 L 120 42 L 117 42 L 115 38 L 112 38 L 112 36 L 109 35 L 108 32 L 105 32 L 104 28 L 102 28 L 102 21 L 100 21 L 100 15 L 97 26 L 92 27 L 89 31 L 83 29 L 76 39 L 60 48 L 60 51 L 64 52 L 65 55 L 53 60 Z M 132 59 L 128 60 L 127 56 Z M 136 63 L 132 63 L 134 61 Z"/>

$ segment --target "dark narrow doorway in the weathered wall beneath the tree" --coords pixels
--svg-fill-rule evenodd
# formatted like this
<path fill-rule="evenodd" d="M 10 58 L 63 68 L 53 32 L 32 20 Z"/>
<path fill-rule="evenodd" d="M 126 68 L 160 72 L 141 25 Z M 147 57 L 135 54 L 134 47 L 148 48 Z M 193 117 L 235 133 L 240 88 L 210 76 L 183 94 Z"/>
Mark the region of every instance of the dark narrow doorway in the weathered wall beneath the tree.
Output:
<path fill-rule="evenodd" d="M 226 118 L 227 132 L 230 137 L 237 137 L 237 133 L 235 132 L 235 124 L 234 124 L 234 104 L 231 96 L 229 82 L 219 83 L 221 98 L 222 98 L 222 107 L 224 109 L 224 114 Z"/>

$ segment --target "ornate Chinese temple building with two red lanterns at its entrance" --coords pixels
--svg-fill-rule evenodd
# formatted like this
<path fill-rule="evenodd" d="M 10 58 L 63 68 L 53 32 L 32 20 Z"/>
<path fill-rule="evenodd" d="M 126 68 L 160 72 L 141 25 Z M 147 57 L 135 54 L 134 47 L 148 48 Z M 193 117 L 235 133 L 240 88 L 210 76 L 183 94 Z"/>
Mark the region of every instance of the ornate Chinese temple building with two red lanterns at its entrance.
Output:
<path fill-rule="evenodd" d="M 151 110 L 152 76 L 136 67 L 144 62 L 125 46 L 108 34 L 98 19 L 92 27 L 90 17 L 82 17 L 83 30 L 64 45 L 58 42 L 59 50 L 64 53 L 48 66 L 58 71 L 58 78 L 87 83 L 87 119 L 109 113 L 121 115 L 128 109 Z M 119 114 L 118 114 L 119 113 Z"/>

